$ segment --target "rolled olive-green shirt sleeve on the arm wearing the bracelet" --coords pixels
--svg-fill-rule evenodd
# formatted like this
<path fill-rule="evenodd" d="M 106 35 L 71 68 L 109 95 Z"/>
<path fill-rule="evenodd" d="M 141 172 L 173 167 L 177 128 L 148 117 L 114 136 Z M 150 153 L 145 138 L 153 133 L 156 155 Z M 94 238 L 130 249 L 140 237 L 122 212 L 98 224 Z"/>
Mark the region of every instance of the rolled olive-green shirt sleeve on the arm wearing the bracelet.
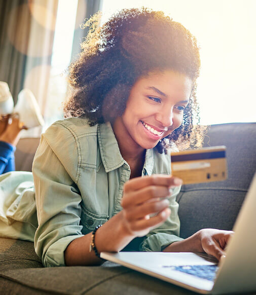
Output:
<path fill-rule="evenodd" d="M 68 136 L 72 135 L 63 136 L 64 134 L 59 133 L 60 131 L 56 134 L 61 136 L 62 140 L 64 138 L 65 142 L 70 141 Z M 82 198 L 72 179 L 73 175 L 67 173 L 68 167 L 65 167 L 69 161 L 78 167 L 78 157 L 74 152 L 70 155 L 67 149 L 62 149 L 61 146 L 60 153 L 56 155 L 49 144 L 50 138 L 51 131 L 48 136 L 42 136 L 32 167 L 39 224 L 34 246 L 45 267 L 64 266 L 66 247 L 72 240 L 83 236 L 80 225 Z M 63 143 L 58 144 L 63 146 Z M 72 144 L 74 145 L 74 140 Z M 61 151 L 66 154 L 62 155 L 64 152 Z M 74 173 L 77 173 L 77 169 Z"/>

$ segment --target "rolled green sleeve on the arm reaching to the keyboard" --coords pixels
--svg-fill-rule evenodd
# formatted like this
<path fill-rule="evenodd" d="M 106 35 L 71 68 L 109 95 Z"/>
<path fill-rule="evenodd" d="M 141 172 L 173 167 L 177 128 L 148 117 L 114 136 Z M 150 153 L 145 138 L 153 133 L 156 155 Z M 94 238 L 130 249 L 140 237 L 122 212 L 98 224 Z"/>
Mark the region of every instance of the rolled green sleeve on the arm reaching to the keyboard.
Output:
<path fill-rule="evenodd" d="M 164 224 L 150 231 L 150 233 L 145 236 L 145 239 L 140 244 L 140 251 L 161 252 L 171 243 L 183 240 L 179 237 L 180 222 L 178 218 L 178 203 L 176 202 L 179 191 L 180 187 L 175 188 L 169 199 L 169 208 L 171 209 L 170 216 Z"/>

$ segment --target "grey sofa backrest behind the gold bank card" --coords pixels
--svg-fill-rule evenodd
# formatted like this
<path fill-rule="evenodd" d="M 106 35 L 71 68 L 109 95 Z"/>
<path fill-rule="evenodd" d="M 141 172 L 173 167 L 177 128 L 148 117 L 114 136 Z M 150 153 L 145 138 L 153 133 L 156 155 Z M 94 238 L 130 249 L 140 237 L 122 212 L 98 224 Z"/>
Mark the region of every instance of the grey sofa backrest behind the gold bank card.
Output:
<path fill-rule="evenodd" d="M 256 123 L 211 126 L 204 146 L 227 146 L 228 179 L 185 185 L 177 197 L 180 236 L 202 228 L 232 230 L 256 170 Z"/>

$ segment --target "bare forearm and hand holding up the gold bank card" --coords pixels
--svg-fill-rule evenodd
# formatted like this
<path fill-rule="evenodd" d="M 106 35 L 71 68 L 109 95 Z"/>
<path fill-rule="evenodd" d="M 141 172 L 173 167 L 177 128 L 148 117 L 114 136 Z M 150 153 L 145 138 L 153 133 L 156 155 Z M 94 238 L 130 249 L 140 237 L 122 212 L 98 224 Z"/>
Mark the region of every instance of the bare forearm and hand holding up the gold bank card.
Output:
<path fill-rule="evenodd" d="M 110 218 L 96 232 L 98 252 L 121 251 L 131 240 L 147 235 L 159 227 L 170 215 L 170 190 L 181 185 L 181 179 L 170 175 L 155 174 L 127 181 L 121 205 L 123 210 Z M 152 216 L 153 215 L 153 216 Z M 89 252 L 92 234 L 72 241 L 64 252 L 66 265 L 95 265 L 102 260 Z"/>

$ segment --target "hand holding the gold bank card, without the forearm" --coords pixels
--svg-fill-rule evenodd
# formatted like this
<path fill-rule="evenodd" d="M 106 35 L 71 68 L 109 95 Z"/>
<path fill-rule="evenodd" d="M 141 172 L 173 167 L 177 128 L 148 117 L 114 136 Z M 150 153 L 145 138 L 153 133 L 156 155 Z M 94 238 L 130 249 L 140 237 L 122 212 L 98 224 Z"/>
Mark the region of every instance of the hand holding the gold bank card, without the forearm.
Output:
<path fill-rule="evenodd" d="M 121 205 L 123 228 L 128 235 L 141 237 L 159 227 L 171 213 L 168 196 L 182 180 L 155 174 L 127 181 Z"/>

